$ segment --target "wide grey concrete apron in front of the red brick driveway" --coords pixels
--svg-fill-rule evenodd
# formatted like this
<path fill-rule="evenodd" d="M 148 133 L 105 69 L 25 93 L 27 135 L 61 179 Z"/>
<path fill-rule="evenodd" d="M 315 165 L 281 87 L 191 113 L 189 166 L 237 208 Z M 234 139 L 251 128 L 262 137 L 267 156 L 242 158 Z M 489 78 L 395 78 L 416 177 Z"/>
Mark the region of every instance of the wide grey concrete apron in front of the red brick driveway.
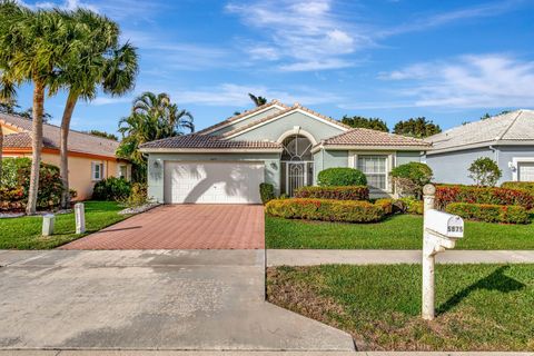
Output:
<path fill-rule="evenodd" d="M 348 334 L 265 301 L 264 250 L 13 250 L 0 266 L 1 356 L 354 350 Z"/>

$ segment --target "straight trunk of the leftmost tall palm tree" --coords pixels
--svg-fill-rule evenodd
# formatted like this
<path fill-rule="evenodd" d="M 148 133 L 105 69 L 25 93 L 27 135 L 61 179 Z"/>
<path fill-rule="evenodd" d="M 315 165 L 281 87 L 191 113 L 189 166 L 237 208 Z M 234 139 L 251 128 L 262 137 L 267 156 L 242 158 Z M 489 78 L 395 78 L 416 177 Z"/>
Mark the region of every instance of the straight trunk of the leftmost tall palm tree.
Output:
<path fill-rule="evenodd" d="M 33 80 L 33 122 L 31 131 L 31 175 L 30 190 L 26 212 L 34 215 L 37 209 L 37 194 L 39 191 L 39 167 L 42 149 L 42 112 L 44 111 L 44 85 Z"/>

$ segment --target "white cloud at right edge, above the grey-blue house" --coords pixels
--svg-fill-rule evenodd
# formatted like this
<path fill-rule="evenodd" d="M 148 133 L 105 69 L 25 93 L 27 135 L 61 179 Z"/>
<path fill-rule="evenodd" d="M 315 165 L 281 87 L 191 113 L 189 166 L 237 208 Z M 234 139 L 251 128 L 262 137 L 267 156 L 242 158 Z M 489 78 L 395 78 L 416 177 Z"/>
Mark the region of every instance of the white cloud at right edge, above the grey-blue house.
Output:
<path fill-rule="evenodd" d="M 414 107 L 534 107 L 534 61 L 510 55 L 471 55 L 407 67 L 380 79 L 409 85 L 396 92 Z"/>

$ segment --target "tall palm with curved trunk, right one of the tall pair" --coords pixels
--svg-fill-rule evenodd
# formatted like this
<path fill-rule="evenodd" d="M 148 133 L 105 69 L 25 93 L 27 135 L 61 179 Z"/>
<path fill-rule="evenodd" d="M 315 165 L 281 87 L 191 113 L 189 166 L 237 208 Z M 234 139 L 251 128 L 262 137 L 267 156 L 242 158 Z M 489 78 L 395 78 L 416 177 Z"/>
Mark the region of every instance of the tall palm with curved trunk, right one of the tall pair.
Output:
<path fill-rule="evenodd" d="M 66 63 L 51 86 L 51 92 L 68 90 L 60 128 L 60 176 L 63 182 L 61 207 L 69 205 L 68 137 L 75 107 L 79 99 L 90 101 L 99 88 L 111 96 L 120 96 L 135 86 L 138 72 L 136 49 L 130 43 L 119 44 L 119 28 L 108 18 L 90 10 L 57 12 L 75 28 L 76 40 L 83 43 Z"/>

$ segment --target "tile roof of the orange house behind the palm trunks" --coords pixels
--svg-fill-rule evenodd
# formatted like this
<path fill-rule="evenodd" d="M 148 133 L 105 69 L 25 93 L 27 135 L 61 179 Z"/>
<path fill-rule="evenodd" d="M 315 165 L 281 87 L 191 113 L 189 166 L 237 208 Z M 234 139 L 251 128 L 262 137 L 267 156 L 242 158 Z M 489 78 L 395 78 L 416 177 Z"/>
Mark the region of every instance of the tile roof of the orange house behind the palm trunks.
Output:
<path fill-rule="evenodd" d="M 31 148 L 31 120 L 14 115 L 0 113 L 0 123 L 4 123 L 20 131 L 20 134 L 4 136 L 6 147 Z M 10 136 L 14 137 L 11 138 Z M 44 123 L 42 126 L 42 141 L 43 147 L 59 149 L 59 127 L 50 123 Z M 69 151 L 106 157 L 116 157 L 115 151 L 118 147 L 118 141 L 110 140 L 103 137 L 98 137 L 76 130 L 70 130 L 69 134 Z"/>

